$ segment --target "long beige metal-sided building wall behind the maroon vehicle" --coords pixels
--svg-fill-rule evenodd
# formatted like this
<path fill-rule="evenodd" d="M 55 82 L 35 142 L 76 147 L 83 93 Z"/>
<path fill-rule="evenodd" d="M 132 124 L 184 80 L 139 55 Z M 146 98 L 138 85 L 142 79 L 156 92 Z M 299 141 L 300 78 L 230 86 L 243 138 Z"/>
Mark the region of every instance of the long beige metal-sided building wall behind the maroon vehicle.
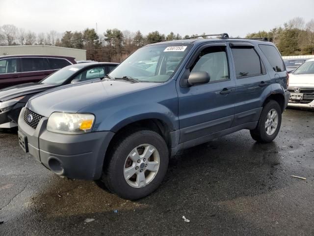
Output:
<path fill-rule="evenodd" d="M 0 56 L 3 55 L 55 55 L 70 56 L 76 60 L 86 60 L 86 50 L 62 48 L 48 45 L 25 45 L 25 46 L 1 46 Z"/>

